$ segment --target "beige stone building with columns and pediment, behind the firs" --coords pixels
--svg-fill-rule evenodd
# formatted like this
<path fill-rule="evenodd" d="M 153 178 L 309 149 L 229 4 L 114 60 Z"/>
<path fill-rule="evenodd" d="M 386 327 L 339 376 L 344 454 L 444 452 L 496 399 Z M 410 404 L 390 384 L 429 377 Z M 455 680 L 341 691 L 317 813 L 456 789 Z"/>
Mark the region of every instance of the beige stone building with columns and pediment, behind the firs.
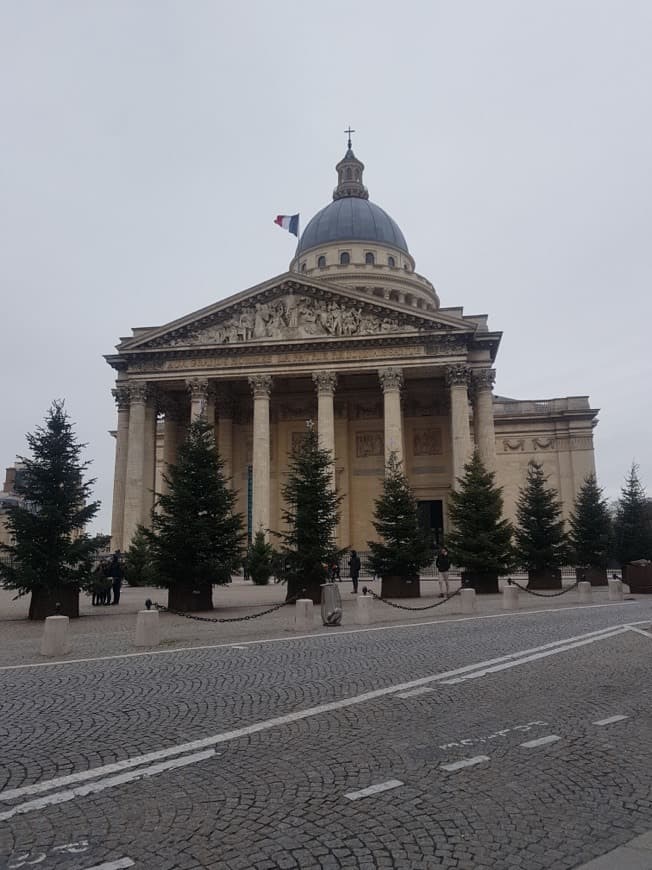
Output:
<path fill-rule="evenodd" d="M 348 153 L 340 174 L 361 166 Z M 351 195 L 338 188 L 334 198 Z M 374 536 L 373 504 L 392 451 L 434 538 L 446 531 L 448 498 L 474 447 L 504 487 L 507 516 L 533 457 L 568 514 L 594 470 L 597 412 L 588 399 L 495 397 L 501 333 L 485 315 L 441 308 L 406 249 L 318 242 L 300 244 L 287 273 L 138 329 L 107 356 L 117 372 L 113 548 L 126 549 L 138 524 L 148 524 L 164 468 L 200 415 L 215 426 L 250 534 L 282 528 L 281 484 L 307 420 L 334 457 L 342 547 L 364 551 Z"/>

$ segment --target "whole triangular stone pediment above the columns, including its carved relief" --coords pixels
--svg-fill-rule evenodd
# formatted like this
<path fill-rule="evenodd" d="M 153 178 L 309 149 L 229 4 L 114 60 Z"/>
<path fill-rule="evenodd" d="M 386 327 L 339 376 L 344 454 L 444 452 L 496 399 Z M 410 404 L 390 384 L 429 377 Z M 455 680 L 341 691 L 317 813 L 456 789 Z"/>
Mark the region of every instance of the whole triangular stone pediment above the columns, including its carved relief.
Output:
<path fill-rule="evenodd" d="M 138 330 L 121 352 L 278 344 L 421 332 L 474 332 L 475 325 L 334 284 L 286 273 L 161 327 Z"/>

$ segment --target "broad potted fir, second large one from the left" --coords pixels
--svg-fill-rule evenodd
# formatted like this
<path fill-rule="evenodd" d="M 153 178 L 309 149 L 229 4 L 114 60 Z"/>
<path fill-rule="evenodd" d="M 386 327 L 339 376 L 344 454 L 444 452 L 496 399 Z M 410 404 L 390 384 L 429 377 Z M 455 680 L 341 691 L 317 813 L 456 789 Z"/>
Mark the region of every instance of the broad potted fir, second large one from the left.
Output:
<path fill-rule="evenodd" d="M 242 562 L 242 516 L 223 467 L 212 427 L 191 423 L 145 530 L 157 583 L 169 590 L 173 609 L 211 610 L 213 585 L 228 583 Z"/>

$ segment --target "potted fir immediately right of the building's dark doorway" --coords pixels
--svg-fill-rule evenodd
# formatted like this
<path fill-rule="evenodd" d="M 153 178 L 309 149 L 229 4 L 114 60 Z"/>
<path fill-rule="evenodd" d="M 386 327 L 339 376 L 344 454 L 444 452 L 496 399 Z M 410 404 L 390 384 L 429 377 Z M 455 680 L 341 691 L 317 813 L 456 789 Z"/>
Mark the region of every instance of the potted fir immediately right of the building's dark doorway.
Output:
<path fill-rule="evenodd" d="M 498 577 L 512 567 L 512 526 L 503 518 L 502 490 L 477 450 L 464 466 L 458 488 L 450 493 L 448 515 L 451 561 L 464 570 L 468 585 L 498 591 Z"/>

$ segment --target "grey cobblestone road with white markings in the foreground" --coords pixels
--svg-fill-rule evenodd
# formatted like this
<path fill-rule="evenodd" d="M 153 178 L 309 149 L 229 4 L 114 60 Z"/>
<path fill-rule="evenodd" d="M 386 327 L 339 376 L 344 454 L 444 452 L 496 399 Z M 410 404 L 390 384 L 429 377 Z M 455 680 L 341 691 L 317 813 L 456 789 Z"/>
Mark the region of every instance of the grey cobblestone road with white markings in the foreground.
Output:
<path fill-rule="evenodd" d="M 652 828 L 650 626 L 642 599 L 0 671 L 0 866 L 577 867 Z"/>

